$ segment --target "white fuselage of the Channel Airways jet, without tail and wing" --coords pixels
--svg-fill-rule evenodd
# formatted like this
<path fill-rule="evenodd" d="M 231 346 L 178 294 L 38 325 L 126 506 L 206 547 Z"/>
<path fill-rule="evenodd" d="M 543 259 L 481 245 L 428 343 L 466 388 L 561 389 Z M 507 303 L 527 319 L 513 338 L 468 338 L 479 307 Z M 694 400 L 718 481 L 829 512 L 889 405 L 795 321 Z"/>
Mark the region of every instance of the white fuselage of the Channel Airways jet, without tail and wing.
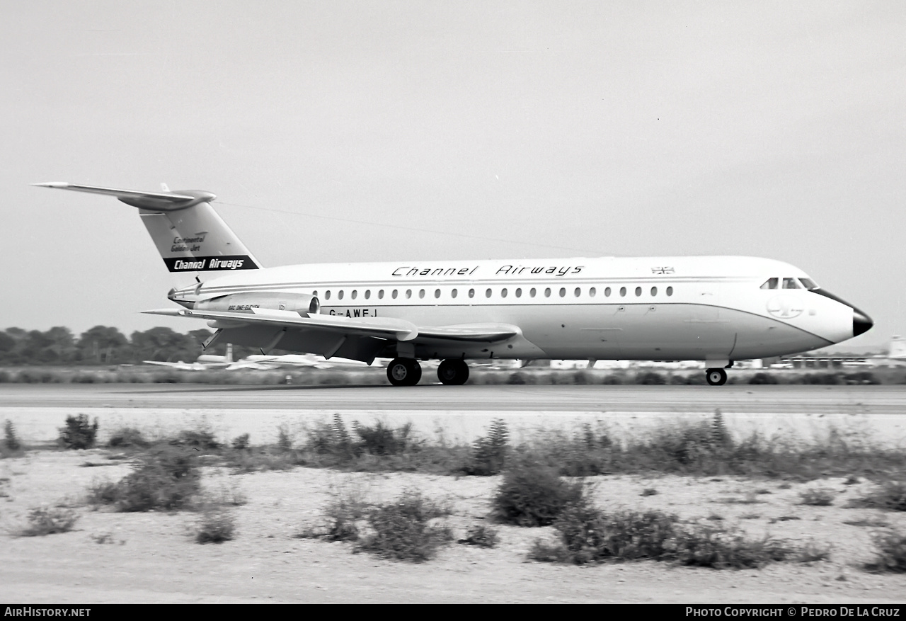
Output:
<path fill-rule="evenodd" d="M 776 278 L 777 288 L 762 288 Z M 783 288 L 784 279 L 795 286 Z M 174 299 L 313 295 L 322 315 L 516 325 L 503 343 L 421 343 L 419 358 L 704 360 L 804 352 L 853 337 L 853 307 L 757 257 L 311 264 L 236 271 Z M 807 285 L 806 285 L 807 286 Z M 281 347 L 284 347 L 281 344 Z M 298 351 L 311 351 L 299 342 Z"/>

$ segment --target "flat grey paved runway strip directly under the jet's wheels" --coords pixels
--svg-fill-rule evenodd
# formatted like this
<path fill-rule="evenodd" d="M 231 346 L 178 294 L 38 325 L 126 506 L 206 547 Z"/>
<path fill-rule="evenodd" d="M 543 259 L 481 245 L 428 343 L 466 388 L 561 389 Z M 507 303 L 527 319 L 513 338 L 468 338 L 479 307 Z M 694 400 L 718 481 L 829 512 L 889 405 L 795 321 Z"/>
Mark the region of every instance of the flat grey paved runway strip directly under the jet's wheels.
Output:
<path fill-rule="evenodd" d="M 0 384 L 0 407 L 533 412 L 906 412 L 906 385 Z"/>

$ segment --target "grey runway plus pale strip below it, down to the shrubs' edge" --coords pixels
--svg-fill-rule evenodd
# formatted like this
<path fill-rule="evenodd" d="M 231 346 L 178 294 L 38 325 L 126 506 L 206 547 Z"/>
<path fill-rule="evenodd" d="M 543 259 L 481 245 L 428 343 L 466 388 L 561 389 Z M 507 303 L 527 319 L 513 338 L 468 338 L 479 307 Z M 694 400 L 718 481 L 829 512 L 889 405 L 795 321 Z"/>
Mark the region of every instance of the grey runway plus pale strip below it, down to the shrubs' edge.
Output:
<path fill-rule="evenodd" d="M 206 426 L 228 440 L 250 433 L 274 441 L 283 425 L 301 438 L 339 413 L 347 424 L 376 420 L 450 441 L 474 441 L 495 418 L 516 440 L 538 428 L 583 422 L 612 432 L 709 419 L 720 410 L 731 432 L 800 438 L 831 429 L 906 446 L 906 386 L 423 385 L 217 386 L 198 384 L 0 384 L 0 421 L 26 442 L 53 441 L 67 415 L 97 417 L 100 439 L 123 426 L 166 435 Z"/>

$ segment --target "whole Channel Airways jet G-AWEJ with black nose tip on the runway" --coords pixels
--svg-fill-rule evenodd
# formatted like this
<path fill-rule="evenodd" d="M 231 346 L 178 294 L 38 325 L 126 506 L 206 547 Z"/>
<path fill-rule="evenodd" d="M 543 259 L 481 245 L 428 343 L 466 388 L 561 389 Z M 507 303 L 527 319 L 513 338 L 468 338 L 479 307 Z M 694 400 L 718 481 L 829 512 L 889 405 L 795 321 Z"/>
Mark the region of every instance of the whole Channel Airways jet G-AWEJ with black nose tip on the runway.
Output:
<path fill-rule="evenodd" d="M 159 192 L 65 182 L 36 186 L 109 195 L 139 215 L 181 308 L 219 342 L 371 363 L 419 383 L 466 383 L 467 361 L 699 360 L 711 385 L 736 360 L 794 354 L 869 330 L 872 319 L 798 267 L 759 257 L 575 257 L 393 261 L 264 267 L 203 190 Z M 202 280 L 200 276 L 206 277 Z"/>

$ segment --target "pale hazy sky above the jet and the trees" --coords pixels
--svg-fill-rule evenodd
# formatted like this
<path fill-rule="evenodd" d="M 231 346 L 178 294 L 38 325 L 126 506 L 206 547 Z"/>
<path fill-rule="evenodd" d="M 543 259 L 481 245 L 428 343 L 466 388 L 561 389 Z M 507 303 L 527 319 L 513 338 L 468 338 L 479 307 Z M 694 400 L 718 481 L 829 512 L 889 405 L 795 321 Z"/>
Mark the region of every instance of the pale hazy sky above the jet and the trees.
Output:
<path fill-rule="evenodd" d="M 753 255 L 906 334 L 906 4 L 0 0 L 0 328 L 136 329 L 137 210 L 265 266 Z"/>

